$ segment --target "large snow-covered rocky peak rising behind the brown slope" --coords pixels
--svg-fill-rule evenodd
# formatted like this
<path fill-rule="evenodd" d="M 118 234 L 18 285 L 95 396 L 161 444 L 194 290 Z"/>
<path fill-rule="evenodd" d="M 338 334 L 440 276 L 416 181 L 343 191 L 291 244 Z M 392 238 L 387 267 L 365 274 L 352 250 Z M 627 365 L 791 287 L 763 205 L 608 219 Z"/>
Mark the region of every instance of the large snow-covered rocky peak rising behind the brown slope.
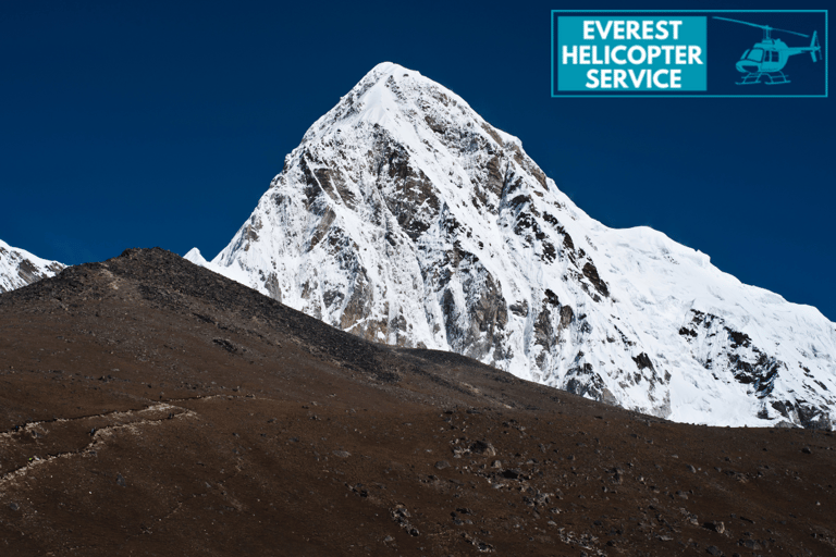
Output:
<path fill-rule="evenodd" d="M 519 139 L 397 64 L 314 123 L 211 262 L 186 258 L 360 337 L 654 416 L 834 426 L 834 323 L 591 219 Z"/>

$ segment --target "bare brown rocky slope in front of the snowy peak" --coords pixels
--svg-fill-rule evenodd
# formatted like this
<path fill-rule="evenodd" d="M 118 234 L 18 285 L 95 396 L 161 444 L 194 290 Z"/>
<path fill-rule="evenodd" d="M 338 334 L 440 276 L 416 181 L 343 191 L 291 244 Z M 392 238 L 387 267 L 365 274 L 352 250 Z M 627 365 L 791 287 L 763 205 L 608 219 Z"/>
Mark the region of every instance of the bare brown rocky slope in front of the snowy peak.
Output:
<path fill-rule="evenodd" d="M 2 555 L 833 555 L 829 432 L 372 344 L 161 249 L 0 295 Z"/>

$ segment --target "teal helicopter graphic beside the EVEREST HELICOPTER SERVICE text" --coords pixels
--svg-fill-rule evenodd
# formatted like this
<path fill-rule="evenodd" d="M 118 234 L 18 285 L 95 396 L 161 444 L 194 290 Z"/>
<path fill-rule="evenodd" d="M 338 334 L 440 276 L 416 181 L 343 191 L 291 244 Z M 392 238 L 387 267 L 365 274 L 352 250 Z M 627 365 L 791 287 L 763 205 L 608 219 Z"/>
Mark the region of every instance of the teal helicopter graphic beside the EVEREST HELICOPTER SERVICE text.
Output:
<path fill-rule="evenodd" d="M 788 47 L 786 42 L 780 39 L 772 38 L 772 32 L 789 33 L 790 35 L 798 35 L 799 37 L 810 38 L 810 35 L 796 33 L 787 29 L 776 29 L 769 25 L 758 25 L 757 23 L 741 22 L 739 20 L 729 20 L 728 17 L 714 16 L 715 20 L 723 20 L 726 22 L 740 23 L 742 25 L 749 25 L 751 27 L 760 27 L 763 29 L 763 40 L 755 42 L 755 45 L 743 52 L 740 60 L 737 62 L 737 71 L 746 74 L 742 81 L 737 82 L 737 85 L 752 85 L 761 83 L 761 77 L 764 78 L 764 83 L 767 85 L 779 85 L 790 83 L 787 76 L 782 72 L 789 57 L 795 54 L 801 54 L 803 52 L 810 52 L 810 57 L 813 62 L 816 62 L 816 54 L 821 59 L 821 45 L 819 44 L 819 35 L 813 32 L 813 38 L 810 41 L 809 47 Z"/>

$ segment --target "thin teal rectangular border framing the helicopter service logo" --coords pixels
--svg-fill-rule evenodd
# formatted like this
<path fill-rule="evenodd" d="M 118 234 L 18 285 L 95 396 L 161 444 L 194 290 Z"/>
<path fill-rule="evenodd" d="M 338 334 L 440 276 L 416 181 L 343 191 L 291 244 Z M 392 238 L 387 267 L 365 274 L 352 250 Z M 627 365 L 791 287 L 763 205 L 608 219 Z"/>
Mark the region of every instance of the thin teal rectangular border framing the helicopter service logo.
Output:
<path fill-rule="evenodd" d="M 693 99 L 693 98 L 702 98 L 702 99 L 776 99 L 776 98 L 794 98 L 794 99 L 826 99 L 828 97 L 828 83 L 829 83 L 829 64 L 831 64 L 831 57 L 827 57 L 825 60 L 824 65 L 824 95 L 693 95 L 693 94 L 687 94 L 687 95 L 672 95 L 669 92 L 660 92 L 656 95 L 647 95 L 647 94 L 623 94 L 623 95 L 610 95 L 610 94 L 600 94 L 600 92 L 590 92 L 590 94 L 571 94 L 571 95 L 555 95 L 554 94 L 554 16 L 555 14 L 560 13 L 610 13 L 610 14 L 623 14 L 623 13 L 824 13 L 824 50 L 825 54 L 827 53 L 827 50 L 829 49 L 829 36 L 828 36 L 828 29 L 829 29 L 829 22 L 827 20 L 827 12 L 828 10 L 552 10 L 551 11 L 551 25 L 552 25 L 552 52 L 551 52 L 551 60 L 552 60 L 552 98 L 553 99 L 563 99 L 563 98 L 598 98 L 598 99 L 625 99 L 625 98 L 634 98 L 634 99 L 659 99 L 659 98 L 681 98 L 681 99 Z"/>

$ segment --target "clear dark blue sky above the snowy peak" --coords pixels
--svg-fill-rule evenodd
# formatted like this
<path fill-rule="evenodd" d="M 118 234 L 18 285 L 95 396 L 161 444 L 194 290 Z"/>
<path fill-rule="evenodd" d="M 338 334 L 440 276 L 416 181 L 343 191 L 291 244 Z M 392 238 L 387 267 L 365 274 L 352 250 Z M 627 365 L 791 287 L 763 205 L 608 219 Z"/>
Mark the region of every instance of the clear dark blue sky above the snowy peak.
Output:
<path fill-rule="evenodd" d="M 604 224 L 653 226 L 836 320 L 833 99 L 552 99 L 550 10 L 570 8 L 3 2 L 0 238 L 71 264 L 211 258 L 307 127 L 388 60 L 518 136 Z"/>

